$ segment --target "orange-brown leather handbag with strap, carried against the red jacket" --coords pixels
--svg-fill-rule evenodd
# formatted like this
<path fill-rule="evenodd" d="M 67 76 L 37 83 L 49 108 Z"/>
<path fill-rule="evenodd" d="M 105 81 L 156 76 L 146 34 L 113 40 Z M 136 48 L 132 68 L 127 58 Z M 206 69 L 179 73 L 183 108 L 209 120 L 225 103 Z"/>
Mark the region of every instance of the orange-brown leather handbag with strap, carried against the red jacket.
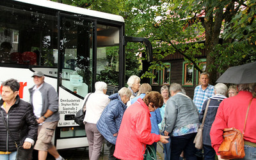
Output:
<path fill-rule="evenodd" d="M 245 129 L 245 124 L 246 124 L 246 120 L 248 117 L 249 108 L 252 103 L 252 99 L 247 108 L 247 113 L 246 113 L 245 122 L 244 122 L 244 129 Z M 223 158 L 223 159 L 239 159 L 239 158 L 243 158 L 245 156 L 245 154 L 244 154 L 244 139 L 243 139 L 244 129 L 243 129 L 243 133 L 241 133 L 241 131 L 239 131 L 238 129 L 236 129 L 234 127 L 224 129 L 224 131 L 223 131 L 224 140 L 221 143 L 220 148 L 219 148 L 221 158 Z"/>

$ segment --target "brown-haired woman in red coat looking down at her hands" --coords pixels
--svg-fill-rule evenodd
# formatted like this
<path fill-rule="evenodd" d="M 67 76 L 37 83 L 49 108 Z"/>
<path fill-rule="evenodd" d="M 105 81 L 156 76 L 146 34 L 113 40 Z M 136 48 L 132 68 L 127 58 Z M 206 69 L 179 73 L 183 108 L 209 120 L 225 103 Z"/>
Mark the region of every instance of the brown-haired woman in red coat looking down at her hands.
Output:
<path fill-rule="evenodd" d="M 127 108 L 116 140 L 115 157 L 143 159 L 147 144 L 158 141 L 168 143 L 168 136 L 151 133 L 150 112 L 161 106 L 163 97 L 159 92 L 152 91 Z"/>

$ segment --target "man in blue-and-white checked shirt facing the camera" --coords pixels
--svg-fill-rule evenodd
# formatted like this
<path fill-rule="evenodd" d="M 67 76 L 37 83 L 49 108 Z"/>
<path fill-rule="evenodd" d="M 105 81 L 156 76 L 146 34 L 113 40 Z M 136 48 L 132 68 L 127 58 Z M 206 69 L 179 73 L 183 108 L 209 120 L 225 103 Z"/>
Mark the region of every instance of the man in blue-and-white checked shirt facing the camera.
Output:
<path fill-rule="evenodd" d="M 199 81 L 201 85 L 196 86 L 193 101 L 200 113 L 204 101 L 214 96 L 214 86 L 209 84 L 209 74 L 206 72 L 200 74 Z"/>

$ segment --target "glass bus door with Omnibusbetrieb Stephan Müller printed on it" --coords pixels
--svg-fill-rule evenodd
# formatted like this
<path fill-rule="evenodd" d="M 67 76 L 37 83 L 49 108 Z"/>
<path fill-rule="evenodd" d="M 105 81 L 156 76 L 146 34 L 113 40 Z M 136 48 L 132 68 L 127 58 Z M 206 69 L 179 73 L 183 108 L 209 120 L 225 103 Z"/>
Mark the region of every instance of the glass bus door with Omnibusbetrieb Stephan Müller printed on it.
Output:
<path fill-rule="evenodd" d="M 85 131 L 74 122 L 74 116 L 83 106 L 84 96 L 93 91 L 93 22 L 59 13 L 58 55 L 60 120 L 56 147 L 79 147 L 79 143 L 83 147 L 88 142 L 79 137 L 85 138 Z"/>

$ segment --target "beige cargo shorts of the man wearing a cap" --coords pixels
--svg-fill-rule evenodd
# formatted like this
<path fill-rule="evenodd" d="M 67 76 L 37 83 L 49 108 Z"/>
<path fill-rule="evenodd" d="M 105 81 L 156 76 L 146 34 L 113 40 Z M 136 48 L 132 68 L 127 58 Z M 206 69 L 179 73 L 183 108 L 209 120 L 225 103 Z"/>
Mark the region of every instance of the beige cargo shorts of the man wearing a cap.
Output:
<path fill-rule="evenodd" d="M 42 125 L 38 126 L 38 136 L 34 147 L 35 150 L 47 151 L 48 149 L 51 149 L 53 146 L 51 140 L 57 124 L 58 121 L 44 122 Z"/>

